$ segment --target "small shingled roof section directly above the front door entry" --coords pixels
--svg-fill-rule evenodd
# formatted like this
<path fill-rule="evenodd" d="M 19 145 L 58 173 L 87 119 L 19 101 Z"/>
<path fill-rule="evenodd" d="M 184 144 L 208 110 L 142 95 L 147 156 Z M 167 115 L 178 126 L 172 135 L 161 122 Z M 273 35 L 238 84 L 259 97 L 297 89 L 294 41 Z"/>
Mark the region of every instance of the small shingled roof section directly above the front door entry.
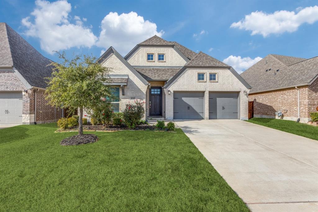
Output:
<path fill-rule="evenodd" d="M 143 78 L 145 78 L 148 81 L 154 81 L 154 80 L 167 81 L 171 77 L 176 75 L 176 73 L 178 73 L 178 71 L 181 68 L 137 68 L 135 67 L 135 69 L 136 71 L 138 71 L 140 75 L 142 75 Z"/>

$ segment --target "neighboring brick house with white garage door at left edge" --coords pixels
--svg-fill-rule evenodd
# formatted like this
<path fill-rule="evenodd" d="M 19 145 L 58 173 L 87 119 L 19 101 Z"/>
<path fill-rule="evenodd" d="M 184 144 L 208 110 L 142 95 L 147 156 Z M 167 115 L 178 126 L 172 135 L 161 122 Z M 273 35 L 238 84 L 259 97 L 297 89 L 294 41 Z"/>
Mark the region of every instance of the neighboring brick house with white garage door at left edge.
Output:
<path fill-rule="evenodd" d="M 0 124 L 57 120 L 62 110 L 45 100 L 45 77 L 52 61 L 41 55 L 6 23 L 0 23 Z"/>

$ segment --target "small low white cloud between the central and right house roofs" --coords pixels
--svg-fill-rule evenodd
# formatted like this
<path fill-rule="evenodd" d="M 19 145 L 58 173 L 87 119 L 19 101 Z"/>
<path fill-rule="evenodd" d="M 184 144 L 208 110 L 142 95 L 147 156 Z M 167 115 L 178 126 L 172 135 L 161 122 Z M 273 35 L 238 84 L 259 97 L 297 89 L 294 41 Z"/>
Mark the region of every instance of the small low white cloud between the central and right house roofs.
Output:
<path fill-rule="evenodd" d="M 256 57 L 254 59 L 250 57 L 241 57 L 241 56 L 229 56 L 228 58 L 224 59 L 223 62 L 232 66 L 239 74 L 243 71 L 257 63 L 259 60 L 262 60 L 261 57 Z"/>

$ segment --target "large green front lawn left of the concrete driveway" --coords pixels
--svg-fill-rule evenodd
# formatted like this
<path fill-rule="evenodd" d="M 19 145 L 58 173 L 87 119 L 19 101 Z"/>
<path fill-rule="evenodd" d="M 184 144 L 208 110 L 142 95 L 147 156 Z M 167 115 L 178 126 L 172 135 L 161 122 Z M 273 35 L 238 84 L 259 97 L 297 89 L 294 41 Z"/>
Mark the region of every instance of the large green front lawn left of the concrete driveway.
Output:
<path fill-rule="evenodd" d="M 94 132 L 79 146 L 55 130 L 0 130 L 0 211 L 249 211 L 180 129 Z"/>

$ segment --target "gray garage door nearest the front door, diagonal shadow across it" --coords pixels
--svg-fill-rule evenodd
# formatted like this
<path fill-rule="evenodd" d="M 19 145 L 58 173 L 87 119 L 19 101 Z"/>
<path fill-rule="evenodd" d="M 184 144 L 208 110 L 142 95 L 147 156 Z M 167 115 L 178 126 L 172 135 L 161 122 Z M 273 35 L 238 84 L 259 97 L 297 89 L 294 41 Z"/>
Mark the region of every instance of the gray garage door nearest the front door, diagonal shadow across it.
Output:
<path fill-rule="evenodd" d="M 174 92 L 174 119 L 203 119 L 204 92 Z"/>

